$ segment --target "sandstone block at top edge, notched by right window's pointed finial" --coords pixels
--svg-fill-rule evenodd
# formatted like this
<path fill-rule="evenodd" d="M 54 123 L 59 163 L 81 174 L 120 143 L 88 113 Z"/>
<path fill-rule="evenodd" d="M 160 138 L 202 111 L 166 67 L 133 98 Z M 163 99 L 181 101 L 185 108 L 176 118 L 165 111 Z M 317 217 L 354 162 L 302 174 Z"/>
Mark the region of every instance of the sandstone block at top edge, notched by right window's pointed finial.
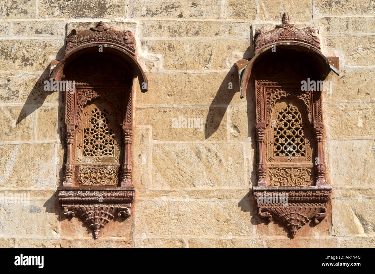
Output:
<path fill-rule="evenodd" d="M 288 11 L 293 23 L 310 22 L 312 18 L 312 8 L 310 0 L 293 1 L 293 0 L 276 0 L 258 1 L 259 12 L 258 17 L 263 21 L 280 22 L 282 14 Z"/>

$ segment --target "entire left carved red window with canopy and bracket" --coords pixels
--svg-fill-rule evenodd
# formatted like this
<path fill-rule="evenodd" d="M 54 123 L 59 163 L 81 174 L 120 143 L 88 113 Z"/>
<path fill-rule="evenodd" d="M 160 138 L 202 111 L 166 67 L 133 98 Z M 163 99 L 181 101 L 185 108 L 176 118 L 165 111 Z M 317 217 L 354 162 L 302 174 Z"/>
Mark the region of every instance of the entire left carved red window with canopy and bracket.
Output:
<path fill-rule="evenodd" d="M 65 91 L 65 176 L 58 199 L 64 214 L 80 218 L 95 239 L 111 219 L 131 213 L 133 78 L 147 91 L 136 59 L 133 34 L 99 22 L 72 30 L 64 58 L 51 63 L 51 78 L 74 83 Z"/>

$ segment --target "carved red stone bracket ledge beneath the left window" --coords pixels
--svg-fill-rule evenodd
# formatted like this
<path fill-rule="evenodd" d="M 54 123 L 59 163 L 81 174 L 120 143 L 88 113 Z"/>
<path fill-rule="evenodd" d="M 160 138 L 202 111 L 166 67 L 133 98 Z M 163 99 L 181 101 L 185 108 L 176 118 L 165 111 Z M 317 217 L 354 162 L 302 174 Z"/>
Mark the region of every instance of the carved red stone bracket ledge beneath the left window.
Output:
<path fill-rule="evenodd" d="M 134 187 L 58 187 L 64 215 L 79 218 L 98 239 L 101 229 L 115 217 L 129 217 Z"/>

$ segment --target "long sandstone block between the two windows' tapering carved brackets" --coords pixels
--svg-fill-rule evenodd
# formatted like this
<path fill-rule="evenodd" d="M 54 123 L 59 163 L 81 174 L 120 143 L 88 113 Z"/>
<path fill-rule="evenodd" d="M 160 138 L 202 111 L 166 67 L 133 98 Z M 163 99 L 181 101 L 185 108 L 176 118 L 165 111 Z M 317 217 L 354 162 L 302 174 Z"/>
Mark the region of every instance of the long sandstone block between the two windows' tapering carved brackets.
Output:
<path fill-rule="evenodd" d="M 134 235 L 252 235 L 252 205 L 239 200 L 136 200 Z M 204 210 L 203 210 L 204 209 Z M 155 220 L 155 216 L 157 216 Z"/>

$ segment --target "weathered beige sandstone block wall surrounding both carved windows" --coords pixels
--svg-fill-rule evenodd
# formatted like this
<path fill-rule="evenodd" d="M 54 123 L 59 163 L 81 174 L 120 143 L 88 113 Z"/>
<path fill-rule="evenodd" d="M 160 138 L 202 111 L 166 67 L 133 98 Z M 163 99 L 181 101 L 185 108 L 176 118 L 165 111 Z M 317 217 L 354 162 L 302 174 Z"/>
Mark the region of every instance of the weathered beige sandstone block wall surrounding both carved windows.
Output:
<path fill-rule="evenodd" d="M 293 240 L 255 214 L 254 99 L 240 99 L 233 67 L 284 11 L 340 57 L 323 96 L 332 203 Z M 43 81 L 67 34 L 101 20 L 135 34 L 149 91 L 137 86 L 134 100 L 132 216 L 94 241 L 55 197 L 64 96 Z M 30 205 L 0 205 L 1 247 L 375 247 L 374 1 L 1 1 L 0 30 L 1 193 L 30 194 Z M 173 128 L 179 116 L 204 126 Z"/>

